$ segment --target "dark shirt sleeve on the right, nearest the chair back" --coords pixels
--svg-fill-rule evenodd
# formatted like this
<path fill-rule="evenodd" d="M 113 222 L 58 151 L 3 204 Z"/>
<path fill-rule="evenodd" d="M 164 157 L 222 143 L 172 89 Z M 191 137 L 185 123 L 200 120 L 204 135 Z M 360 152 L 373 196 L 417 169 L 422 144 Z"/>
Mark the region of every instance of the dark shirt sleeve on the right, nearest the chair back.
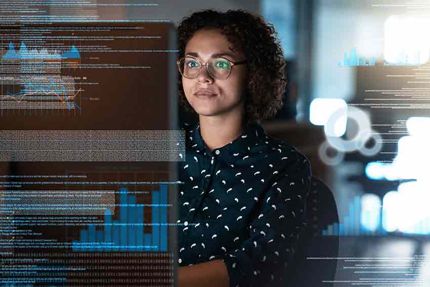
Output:
<path fill-rule="evenodd" d="M 295 160 L 289 162 L 259 199 L 262 204 L 248 226 L 249 238 L 240 249 L 227 252 L 222 258 L 231 287 L 278 286 L 282 282 L 306 220 L 310 183 L 310 163 L 297 152 Z"/>

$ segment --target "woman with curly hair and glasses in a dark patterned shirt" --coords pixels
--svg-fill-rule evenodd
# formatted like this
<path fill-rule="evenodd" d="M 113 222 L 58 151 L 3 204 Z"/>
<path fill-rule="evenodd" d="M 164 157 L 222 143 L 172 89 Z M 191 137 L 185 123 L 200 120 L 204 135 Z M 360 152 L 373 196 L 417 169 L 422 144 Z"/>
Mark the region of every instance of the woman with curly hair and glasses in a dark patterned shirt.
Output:
<path fill-rule="evenodd" d="M 241 10 L 205 10 L 178 33 L 179 94 L 198 116 L 180 164 L 179 286 L 288 282 L 311 172 L 259 122 L 279 110 L 286 87 L 273 26 Z"/>

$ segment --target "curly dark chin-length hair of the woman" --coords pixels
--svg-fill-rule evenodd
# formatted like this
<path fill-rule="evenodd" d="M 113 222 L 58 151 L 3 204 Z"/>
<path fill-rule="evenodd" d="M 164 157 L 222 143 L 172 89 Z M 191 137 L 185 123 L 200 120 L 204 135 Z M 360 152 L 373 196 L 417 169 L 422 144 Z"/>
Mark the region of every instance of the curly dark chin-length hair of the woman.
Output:
<path fill-rule="evenodd" d="M 283 50 L 273 25 L 244 10 L 194 12 L 184 17 L 178 26 L 179 58 L 184 57 L 188 40 L 203 28 L 219 29 L 233 44 L 231 49 L 241 50 L 247 59 L 245 124 L 274 116 L 282 107 L 287 80 Z M 185 97 L 181 74 L 178 93 L 184 109 L 196 116 Z"/>

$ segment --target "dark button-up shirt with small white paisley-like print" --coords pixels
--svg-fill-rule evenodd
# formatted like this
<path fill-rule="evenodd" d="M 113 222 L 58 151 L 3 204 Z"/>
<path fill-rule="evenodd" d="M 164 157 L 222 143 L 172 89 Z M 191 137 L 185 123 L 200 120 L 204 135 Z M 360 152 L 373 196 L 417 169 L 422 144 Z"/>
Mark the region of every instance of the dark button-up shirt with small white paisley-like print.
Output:
<path fill-rule="evenodd" d="M 180 162 L 179 266 L 222 259 L 230 286 L 278 285 L 306 217 L 311 171 L 294 147 L 254 122 L 212 151 L 185 124 Z M 285 276 L 284 276 L 285 277 Z"/>

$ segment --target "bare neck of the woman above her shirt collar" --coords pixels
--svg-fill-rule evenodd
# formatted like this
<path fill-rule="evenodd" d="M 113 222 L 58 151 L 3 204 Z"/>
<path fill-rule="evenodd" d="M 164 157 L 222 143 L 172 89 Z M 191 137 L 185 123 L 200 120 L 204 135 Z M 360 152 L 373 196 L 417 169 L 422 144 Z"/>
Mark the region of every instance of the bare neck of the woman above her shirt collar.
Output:
<path fill-rule="evenodd" d="M 210 151 L 223 147 L 243 134 L 242 114 L 230 117 L 199 116 L 200 134 Z"/>

